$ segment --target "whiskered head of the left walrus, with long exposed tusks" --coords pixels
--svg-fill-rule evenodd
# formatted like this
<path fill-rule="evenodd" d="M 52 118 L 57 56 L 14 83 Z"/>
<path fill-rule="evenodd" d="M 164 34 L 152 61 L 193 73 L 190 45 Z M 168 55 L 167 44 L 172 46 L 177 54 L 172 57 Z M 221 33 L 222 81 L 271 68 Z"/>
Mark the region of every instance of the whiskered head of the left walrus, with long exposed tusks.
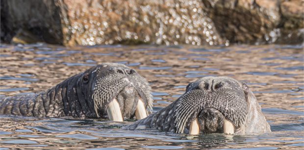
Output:
<path fill-rule="evenodd" d="M 142 119 L 152 110 L 148 82 L 126 65 L 102 63 L 84 72 L 80 83 L 93 101 L 97 117 L 113 121 L 134 116 Z"/>

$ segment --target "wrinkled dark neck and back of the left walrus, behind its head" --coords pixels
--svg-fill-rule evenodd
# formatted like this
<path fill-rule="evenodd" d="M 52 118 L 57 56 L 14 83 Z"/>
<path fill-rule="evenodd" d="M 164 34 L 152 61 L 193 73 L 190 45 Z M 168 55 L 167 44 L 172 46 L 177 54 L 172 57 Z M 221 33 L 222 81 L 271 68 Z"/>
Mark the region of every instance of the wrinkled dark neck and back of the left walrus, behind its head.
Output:
<path fill-rule="evenodd" d="M 0 100 L 0 114 L 58 118 L 64 116 L 96 118 L 94 104 L 81 90 L 79 75 L 70 77 L 46 92 Z M 24 109 L 26 108 L 26 109 Z"/>

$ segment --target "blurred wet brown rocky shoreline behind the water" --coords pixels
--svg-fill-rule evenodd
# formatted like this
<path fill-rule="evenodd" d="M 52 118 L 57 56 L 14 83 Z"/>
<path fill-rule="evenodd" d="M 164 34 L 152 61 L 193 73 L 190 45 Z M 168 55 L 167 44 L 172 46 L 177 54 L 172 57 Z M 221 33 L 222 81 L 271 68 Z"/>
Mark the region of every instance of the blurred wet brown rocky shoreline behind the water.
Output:
<path fill-rule="evenodd" d="M 302 44 L 303 0 L 1 0 L 1 42 Z"/>

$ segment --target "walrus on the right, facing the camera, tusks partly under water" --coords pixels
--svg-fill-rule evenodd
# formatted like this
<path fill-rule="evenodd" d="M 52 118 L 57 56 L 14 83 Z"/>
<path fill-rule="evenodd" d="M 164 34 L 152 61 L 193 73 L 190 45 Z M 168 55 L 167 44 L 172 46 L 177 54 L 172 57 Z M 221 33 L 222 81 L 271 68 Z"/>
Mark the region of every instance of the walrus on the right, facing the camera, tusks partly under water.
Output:
<path fill-rule="evenodd" d="M 156 128 L 187 134 L 271 132 L 260 105 L 245 83 L 212 76 L 189 83 L 176 101 L 123 128 Z"/>

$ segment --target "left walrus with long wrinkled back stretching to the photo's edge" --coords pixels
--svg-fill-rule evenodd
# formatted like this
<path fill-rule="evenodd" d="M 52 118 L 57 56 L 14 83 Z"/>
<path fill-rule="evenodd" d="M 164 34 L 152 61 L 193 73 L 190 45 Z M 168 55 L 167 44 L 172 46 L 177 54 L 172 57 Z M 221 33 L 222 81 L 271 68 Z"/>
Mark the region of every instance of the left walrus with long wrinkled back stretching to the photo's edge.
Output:
<path fill-rule="evenodd" d="M 123 64 L 102 63 L 74 75 L 46 92 L 2 98 L 0 114 L 33 117 L 147 117 L 152 110 L 146 79 Z"/>

